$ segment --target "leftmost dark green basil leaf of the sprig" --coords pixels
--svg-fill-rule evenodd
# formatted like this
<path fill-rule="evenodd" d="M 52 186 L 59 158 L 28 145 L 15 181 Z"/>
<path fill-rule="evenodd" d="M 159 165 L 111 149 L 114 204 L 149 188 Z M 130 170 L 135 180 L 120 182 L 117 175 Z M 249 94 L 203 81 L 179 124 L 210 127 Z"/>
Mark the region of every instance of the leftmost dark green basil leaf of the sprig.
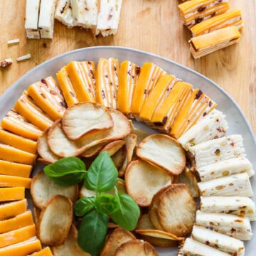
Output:
<path fill-rule="evenodd" d="M 48 164 L 43 171 L 60 186 L 72 186 L 85 178 L 85 163 L 77 157 L 66 157 Z"/>

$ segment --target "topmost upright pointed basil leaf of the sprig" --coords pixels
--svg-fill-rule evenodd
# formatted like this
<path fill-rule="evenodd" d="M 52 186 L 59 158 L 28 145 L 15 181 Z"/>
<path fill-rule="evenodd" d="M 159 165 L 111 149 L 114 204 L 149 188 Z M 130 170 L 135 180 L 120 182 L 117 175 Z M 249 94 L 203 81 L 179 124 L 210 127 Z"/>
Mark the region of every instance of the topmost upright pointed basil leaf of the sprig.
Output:
<path fill-rule="evenodd" d="M 118 171 L 107 151 L 102 151 L 85 174 L 85 188 L 96 193 L 109 191 L 117 183 Z"/>

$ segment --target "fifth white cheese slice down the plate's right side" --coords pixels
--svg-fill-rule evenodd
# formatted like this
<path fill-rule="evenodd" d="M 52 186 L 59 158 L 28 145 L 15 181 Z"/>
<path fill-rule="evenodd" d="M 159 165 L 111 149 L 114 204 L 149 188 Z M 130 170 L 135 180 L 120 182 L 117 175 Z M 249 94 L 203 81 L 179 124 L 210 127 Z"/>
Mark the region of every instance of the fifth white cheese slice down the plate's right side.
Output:
<path fill-rule="evenodd" d="M 232 213 L 256 220 L 255 203 L 244 196 L 201 196 L 200 210 L 204 213 Z"/>

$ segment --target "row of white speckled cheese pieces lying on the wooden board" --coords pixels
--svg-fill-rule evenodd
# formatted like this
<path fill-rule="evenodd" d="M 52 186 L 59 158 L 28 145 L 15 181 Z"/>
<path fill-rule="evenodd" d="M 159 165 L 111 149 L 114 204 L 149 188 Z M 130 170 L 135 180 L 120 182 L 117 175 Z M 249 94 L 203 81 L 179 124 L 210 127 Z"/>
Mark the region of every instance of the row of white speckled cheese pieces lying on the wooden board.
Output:
<path fill-rule="evenodd" d="M 117 33 L 122 0 L 27 0 L 27 38 L 53 38 L 54 20 L 68 28 L 91 28 L 95 35 Z"/>

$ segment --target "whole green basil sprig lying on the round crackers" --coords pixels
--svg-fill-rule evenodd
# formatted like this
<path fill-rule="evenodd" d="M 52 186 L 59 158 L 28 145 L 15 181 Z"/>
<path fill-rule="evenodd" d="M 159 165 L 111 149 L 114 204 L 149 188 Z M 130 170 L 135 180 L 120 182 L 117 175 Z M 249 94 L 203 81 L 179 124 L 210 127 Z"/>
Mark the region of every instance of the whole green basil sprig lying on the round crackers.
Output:
<path fill-rule="evenodd" d="M 102 151 L 86 171 L 82 160 L 67 157 L 44 169 L 46 175 L 62 186 L 83 181 L 85 188 L 96 196 L 80 198 L 74 205 L 75 215 L 82 217 L 78 230 L 78 245 L 96 256 L 105 243 L 109 217 L 125 230 L 134 230 L 139 219 L 139 206 L 127 193 L 119 193 L 118 171 L 107 153 Z M 114 188 L 114 195 L 107 193 Z"/>

